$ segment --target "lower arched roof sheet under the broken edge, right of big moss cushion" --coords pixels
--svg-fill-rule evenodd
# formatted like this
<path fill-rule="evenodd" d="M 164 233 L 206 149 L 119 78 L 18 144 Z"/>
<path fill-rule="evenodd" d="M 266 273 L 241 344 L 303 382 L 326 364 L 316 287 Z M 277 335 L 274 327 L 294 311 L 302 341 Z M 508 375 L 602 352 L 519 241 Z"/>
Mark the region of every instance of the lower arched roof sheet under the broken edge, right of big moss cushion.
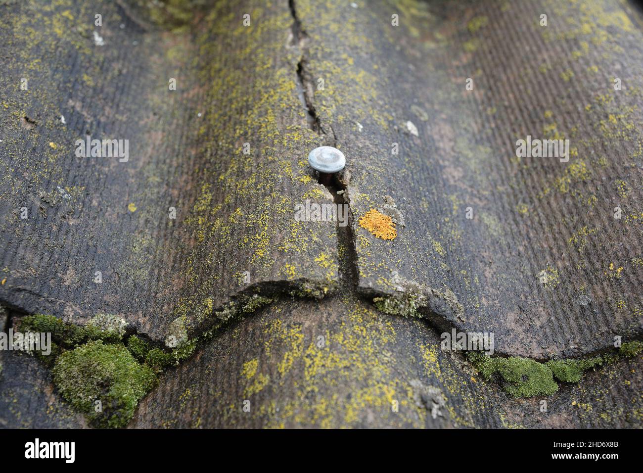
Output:
<path fill-rule="evenodd" d="M 426 322 L 390 317 L 350 295 L 281 301 L 168 371 L 130 426 L 642 425 L 640 357 L 561 384 L 551 396 L 514 400 L 440 342 Z"/>

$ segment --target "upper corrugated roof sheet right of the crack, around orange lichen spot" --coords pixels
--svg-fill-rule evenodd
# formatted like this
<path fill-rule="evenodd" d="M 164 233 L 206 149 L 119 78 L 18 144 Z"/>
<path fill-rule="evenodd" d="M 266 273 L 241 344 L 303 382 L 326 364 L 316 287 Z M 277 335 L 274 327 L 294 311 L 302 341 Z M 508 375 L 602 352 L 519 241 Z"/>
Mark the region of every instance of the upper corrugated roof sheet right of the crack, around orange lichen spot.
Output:
<path fill-rule="evenodd" d="M 364 293 L 452 292 L 459 305 L 434 304 L 435 322 L 494 331 L 507 354 L 579 355 L 641 333 L 640 12 L 296 5 L 307 70 L 325 80 L 316 113 L 347 156 Z M 528 135 L 569 139 L 569 161 L 516 157 Z M 359 227 L 370 209 L 401 214 L 393 241 Z"/>

